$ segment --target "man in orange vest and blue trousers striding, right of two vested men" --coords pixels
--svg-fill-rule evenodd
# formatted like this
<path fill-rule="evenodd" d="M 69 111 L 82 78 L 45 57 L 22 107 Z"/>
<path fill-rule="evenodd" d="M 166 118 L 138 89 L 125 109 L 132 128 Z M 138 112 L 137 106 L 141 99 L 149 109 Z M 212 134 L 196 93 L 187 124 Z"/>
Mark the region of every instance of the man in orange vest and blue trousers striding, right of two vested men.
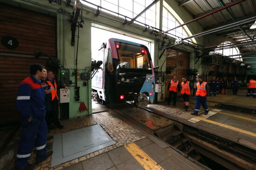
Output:
<path fill-rule="evenodd" d="M 200 111 L 200 106 L 202 105 L 204 109 L 204 114 L 207 115 L 209 112 L 209 108 L 207 106 L 206 97 L 208 94 L 208 85 L 207 82 L 202 81 L 202 76 L 197 75 L 196 80 L 198 81 L 196 84 L 196 93 L 195 93 L 195 110 L 192 115 L 198 115 L 198 112 Z"/>

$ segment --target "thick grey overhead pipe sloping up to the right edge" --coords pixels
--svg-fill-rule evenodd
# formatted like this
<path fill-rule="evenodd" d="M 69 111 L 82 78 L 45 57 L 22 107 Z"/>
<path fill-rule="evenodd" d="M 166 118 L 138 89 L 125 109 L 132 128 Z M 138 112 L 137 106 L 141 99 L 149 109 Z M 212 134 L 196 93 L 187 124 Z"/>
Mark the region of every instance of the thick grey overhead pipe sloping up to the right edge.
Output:
<path fill-rule="evenodd" d="M 226 26 L 220 26 L 220 27 L 218 27 L 218 28 L 214 28 L 214 29 L 211 29 L 211 30 L 202 32 L 202 33 L 197 33 L 197 34 L 195 34 L 195 35 L 191 35 L 191 36 L 189 36 L 189 37 L 187 37 L 187 38 L 184 38 L 184 39 L 182 39 L 182 40 L 186 40 L 186 39 L 191 39 L 191 38 L 199 37 L 199 36 L 206 35 L 206 34 L 209 34 L 209 33 L 215 33 L 215 32 L 221 31 L 221 30 L 225 30 L 225 29 L 228 29 L 228 28 L 232 28 L 232 27 L 234 27 L 234 26 L 239 26 L 239 25 L 242 25 L 242 24 L 246 24 L 246 23 L 248 23 L 248 22 L 252 22 L 252 21 L 255 21 L 255 20 L 256 20 L 256 16 L 255 16 L 255 17 L 248 18 L 248 19 L 245 19 L 245 20 L 241 20 L 241 21 L 237 21 L 237 22 L 228 24 L 228 25 L 226 25 Z"/>

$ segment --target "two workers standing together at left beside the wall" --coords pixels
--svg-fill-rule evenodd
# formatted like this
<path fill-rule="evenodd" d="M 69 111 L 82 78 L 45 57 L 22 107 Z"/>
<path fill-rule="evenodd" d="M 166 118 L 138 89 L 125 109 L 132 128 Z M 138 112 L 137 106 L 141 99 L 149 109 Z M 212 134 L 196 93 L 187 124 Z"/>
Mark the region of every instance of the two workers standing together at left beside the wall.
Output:
<path fill-rule="evenodd" d="M 20 113 L 21 137 L 14 162 L 16 170 L 32 170 L 36 164 L 52 155 L 46 149 L 47 133 L 50 120 L 58 128 L 63 125 L 58 121 L 54 102 L 58 100 L 54 73 L 48 72 L 43 65 L 30 65 L 30 76 L 19 86 L 16 108 Z M 33 149 L 36 149 L 35 163 L 28 163 Z"/>

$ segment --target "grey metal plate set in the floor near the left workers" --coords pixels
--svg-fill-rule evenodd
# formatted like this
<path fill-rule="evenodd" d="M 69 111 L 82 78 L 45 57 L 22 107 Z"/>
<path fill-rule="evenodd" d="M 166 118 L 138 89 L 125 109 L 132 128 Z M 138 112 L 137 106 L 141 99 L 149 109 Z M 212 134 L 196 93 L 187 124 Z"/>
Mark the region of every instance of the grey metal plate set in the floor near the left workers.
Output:
<path fill-rule="evenodd" d="M 99 124 L 54 135 L 51 167 L 106 148 L 115 141 Z"/>

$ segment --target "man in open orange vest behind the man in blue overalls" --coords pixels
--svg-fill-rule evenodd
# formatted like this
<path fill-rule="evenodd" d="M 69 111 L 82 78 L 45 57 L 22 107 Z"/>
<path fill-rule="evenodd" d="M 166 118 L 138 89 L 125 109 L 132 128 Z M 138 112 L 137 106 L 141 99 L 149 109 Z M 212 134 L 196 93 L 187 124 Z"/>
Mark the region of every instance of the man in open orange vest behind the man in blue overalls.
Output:
<path fill-rule="evenodd" d="M 54 78 L 55 78 L 54 72 L 53 71 L 48 71 L 46 82 L 51 87 L 52 98 L 51 98 L 51 110 L 49 112 L 47 112 L 47 116 L 50 116 L 49 122 L 47 122 L 47 124 L 48 125 L 51 124 L 50 119 L 52 118 L 54 124 L 59 129 L 62 129 L 63 125 L 61 124 L 60 121 L 58 121 L 57 111 L 55 111 L 55 109 L 54 109 L 55 103 L 59 100 L 58 95 L 57 95 L 57 84 L 56 84 L 56 81 L 54 80 Z"/>

